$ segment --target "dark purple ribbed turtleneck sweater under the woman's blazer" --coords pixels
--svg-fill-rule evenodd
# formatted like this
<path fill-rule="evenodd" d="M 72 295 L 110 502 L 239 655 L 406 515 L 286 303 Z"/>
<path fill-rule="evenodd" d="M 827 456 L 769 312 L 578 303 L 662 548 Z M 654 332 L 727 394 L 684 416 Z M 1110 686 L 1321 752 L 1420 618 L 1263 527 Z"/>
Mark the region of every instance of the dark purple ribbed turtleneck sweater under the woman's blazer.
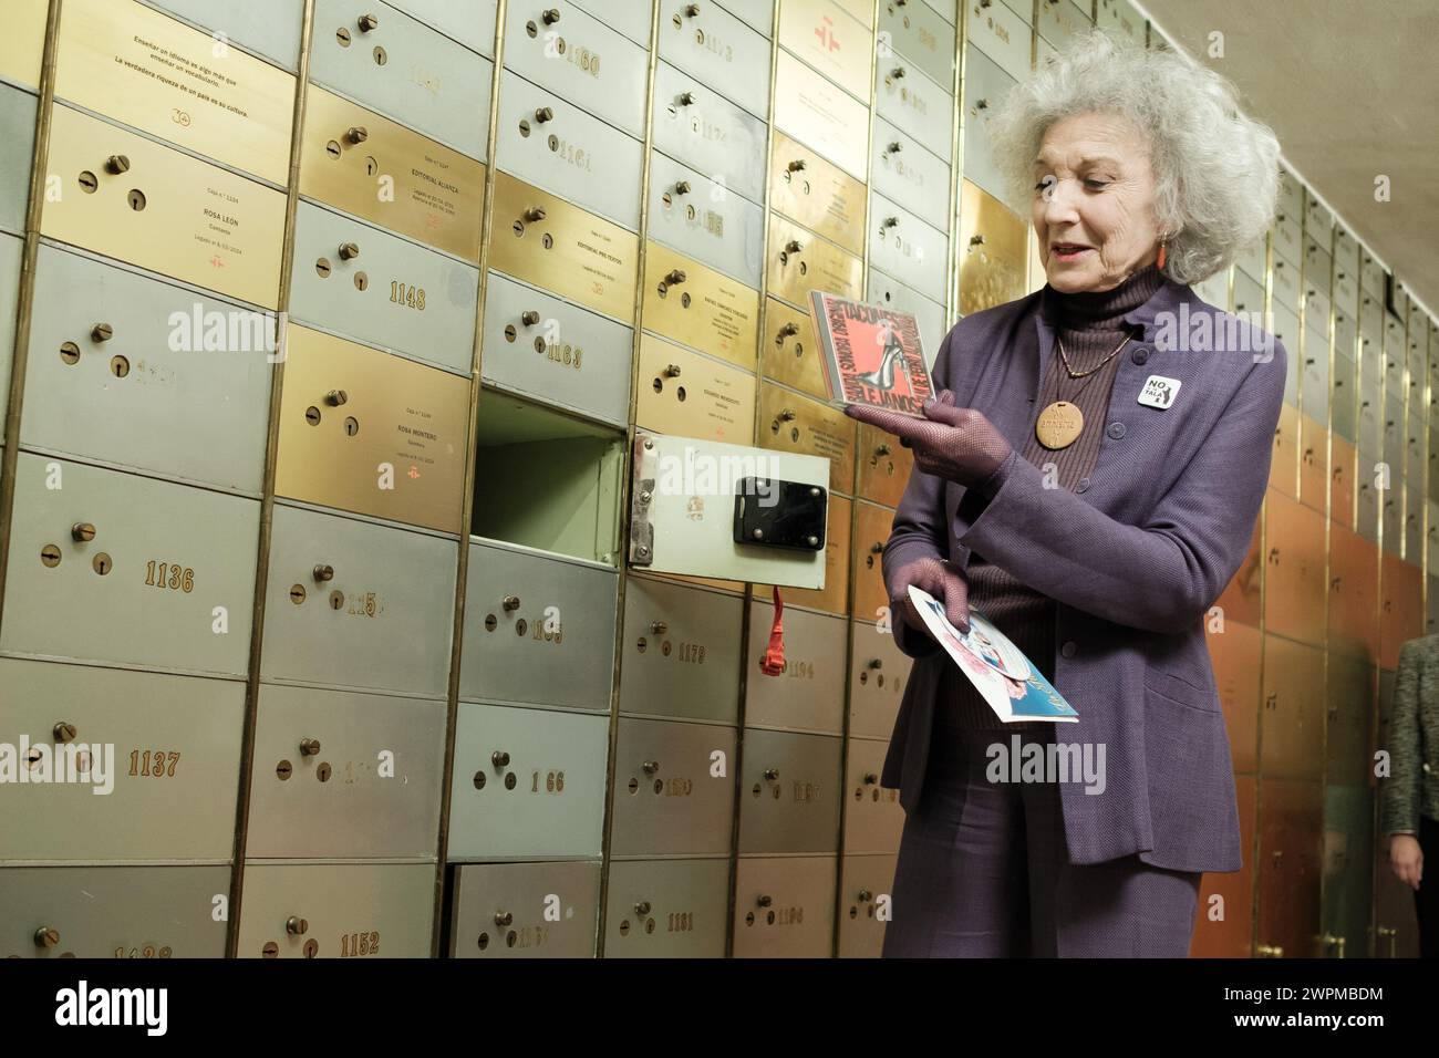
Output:
<path fill-rule="evenodd" d="M 1108 357 L 1132 330 L 1124 322 L 1125 314 L 1154 297 L 1163 285 L 1163 273 L 1150 265 L 1111 291 L 1061 294 L 1052 286 L 1046 286 L 1043 291 L 1046 315 L 1055 320 L 1056 333 L 1063 343 L 1071 367 L 1082 373 Z M 1109 357 L 1101 370 L 1084 379 L 1069 377 L 1058 348 L 1049 360 L 1049 369 L 1045 371 L 1039 389 L 1039 403 L 1030 415 L 1029 433 L 1019 455 L 1040 469 L 1046 469 L 1046 464 L 1053 464 L 1059 488 L 1072 489 L 1075 482 L 1094 469 L 1099 456 L 1099 442 L 1104 439 L 1109 392 L 1124 356 L 1127 354 Z M 1075 396 L 1076 392 L 1078 396 Z M 1084 428 L 1079 436 L 1061 449 L 1048 449 L 1035 436 L 1035 420 L 1052 400 L 1069 400 L 1078 404 L 1084 415 Z M 996 488 L 1000 476 L 997 474 L 994 479 L 986 482 L 986 487 Z M 970 554 L 966 580 L 970 584 L 970 605 L 979 607 L 984 616 L 993 620 L 1043 672 L 1045 678 L 1053 681 L 1053 600 L 1022 584 L 999 566 L 991 566 L 977 553 Z M 1043 721 L 1004 724 L 954 665 L 944 666 L 944 679 L 947 682 L 940 701 L 947 707 L 941 707 L 935 713 L 935 728 L 937 733 L 948 731 L 950 737 L 937 734 L 931 746 L 931 753 L 937 754 L 941 767 L 950 751 L 957 750 L 957 730 L 1040 731 L 1045 727 L 1052 727 Z M 1059 689 L 1063 691 L 1063 688 Z"/>

